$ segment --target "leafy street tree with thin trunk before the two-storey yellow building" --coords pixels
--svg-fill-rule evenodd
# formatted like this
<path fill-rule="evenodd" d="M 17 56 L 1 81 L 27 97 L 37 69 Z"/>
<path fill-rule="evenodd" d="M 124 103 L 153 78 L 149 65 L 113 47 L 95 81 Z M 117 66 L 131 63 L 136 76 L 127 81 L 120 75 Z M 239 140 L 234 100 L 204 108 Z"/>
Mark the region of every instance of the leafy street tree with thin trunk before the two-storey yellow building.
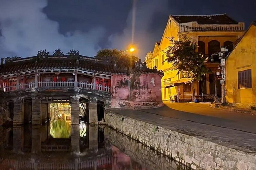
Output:
<path fill-rule="evenodd" d="M 202 75 L 207 73 L 204 63 L 207 58 L 197 52 L 197 43 L 191 42 L 186 35 L 175 40 L 174 37 L 167 37 L 170 40 L 170 46 L 166 51 L 166 61 L 172 63 L 172 69 L 177 70 L 177 75 L 182 73 L 184 77 L 191 78 L 193 90 L 192 102 L 195 99 L 194 81 L 202 80 Z"/>

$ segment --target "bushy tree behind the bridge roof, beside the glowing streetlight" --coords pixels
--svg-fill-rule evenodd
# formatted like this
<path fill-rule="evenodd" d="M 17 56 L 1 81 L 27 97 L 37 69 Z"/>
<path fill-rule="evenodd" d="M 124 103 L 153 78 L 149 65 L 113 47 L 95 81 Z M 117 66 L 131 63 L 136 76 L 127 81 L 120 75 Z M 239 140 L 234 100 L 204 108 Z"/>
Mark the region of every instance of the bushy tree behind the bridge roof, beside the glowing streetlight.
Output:
<path fill-rule="evenodd" d="M 138 57 L 129 54 L 129 52 L 117 49 L 101 49 L 97 52 L 96 58 L 103 61 L 115 60 L 119 68 L 133 68 L 135 62 L 139 60 Z"/>

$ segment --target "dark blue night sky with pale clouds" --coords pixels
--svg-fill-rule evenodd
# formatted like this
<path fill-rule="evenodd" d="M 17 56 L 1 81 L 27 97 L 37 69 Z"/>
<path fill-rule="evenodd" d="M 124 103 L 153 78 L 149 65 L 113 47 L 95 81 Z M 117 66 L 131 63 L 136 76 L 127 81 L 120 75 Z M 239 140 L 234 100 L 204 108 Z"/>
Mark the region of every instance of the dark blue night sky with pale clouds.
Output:
<path fill-rule="evenodd" d="M 126 50 L 131 43 L 132 0 L 0 0 L 0 58 L 38 50 Z M 169 14 L 227 13 L 246 28 L 256 20 L 256 0 L 137 0 L 134 44 L 144 59 L 160 41 Z"/>

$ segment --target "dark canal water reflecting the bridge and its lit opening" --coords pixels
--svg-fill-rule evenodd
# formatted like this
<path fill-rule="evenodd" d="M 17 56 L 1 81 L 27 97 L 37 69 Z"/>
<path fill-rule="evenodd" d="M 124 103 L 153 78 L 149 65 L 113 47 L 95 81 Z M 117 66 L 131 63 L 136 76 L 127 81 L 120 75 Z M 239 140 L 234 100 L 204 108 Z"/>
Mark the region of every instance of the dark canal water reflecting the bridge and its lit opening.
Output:
<path fill-rule="evenodd" d="M 183 170 L 170 158 L 108 127 L 52 121 L 0 127 L 0 170 Z"/>

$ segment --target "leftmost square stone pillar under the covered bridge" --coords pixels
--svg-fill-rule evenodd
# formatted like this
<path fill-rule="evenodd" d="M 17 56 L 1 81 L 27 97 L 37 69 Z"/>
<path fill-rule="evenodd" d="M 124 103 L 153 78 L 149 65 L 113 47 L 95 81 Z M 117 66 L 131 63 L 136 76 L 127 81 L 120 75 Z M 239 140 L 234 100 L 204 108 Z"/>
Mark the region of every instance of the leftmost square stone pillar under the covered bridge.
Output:
<path fill-rule="evenodd" d="M 13 102 L 13 125 L 22 125 L 24 121 L 23 103 L 21 101 Z"/>

